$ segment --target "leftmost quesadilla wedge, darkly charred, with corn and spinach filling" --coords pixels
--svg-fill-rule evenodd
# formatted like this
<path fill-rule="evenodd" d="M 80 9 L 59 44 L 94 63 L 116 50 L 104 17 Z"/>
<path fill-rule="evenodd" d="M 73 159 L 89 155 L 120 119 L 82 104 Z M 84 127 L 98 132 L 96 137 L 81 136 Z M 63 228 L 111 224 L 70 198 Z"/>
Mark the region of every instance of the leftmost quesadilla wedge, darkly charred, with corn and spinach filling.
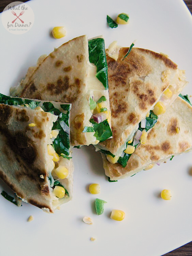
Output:
<path fill-rule="evenodd" d="M 72 198 L 70 110 L 71 104 L 0 94 L 0 178 L 49 213 Z"/>

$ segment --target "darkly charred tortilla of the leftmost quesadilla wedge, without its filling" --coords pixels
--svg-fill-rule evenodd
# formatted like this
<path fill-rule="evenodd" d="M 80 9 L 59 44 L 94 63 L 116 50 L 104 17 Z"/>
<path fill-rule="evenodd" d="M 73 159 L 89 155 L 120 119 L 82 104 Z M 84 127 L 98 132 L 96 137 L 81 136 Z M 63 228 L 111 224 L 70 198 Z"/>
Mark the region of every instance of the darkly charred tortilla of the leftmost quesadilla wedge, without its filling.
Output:
<path fill-rule="evenodd" d="M 53 157 L 48 154 L 47 145 L 53 143 L 50 133 L 58 116 L 41 109 L 0 102 L 0 178 L 23 201 L 53 213 L 60 204 L 71 200 L 73 190 L 72 159 L 60 156 L 56 165 L 65 166 L 69 175 L 59 182 L 69 195 L 66 193 L 62 199 L 58 199 L 53 193 L 51 171 L 55 165 Z M 42 103 L 39 101 L 38 105 L 42 106 Z M 62 111 L 60 103 L 52 103 L 61 112 L 66 112 Z M 31 123 L 35 126 L 30 127 Z M 69 152 L 71 157 L 70 149 Z"/>

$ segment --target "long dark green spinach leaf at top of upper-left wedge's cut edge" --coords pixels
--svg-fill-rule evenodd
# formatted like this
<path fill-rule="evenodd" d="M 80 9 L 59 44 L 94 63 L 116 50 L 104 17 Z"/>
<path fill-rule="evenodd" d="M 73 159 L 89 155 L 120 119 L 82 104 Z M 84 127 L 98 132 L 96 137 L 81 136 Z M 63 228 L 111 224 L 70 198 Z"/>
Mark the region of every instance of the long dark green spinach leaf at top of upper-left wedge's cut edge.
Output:
<path fill-rule="evenodd" d="M 97 67 L 96 77 L 108 89 L 107 60 L 105 55 L 105 41 L 103 38 L 91 39 L 89 44 L 89 61 Z"/>

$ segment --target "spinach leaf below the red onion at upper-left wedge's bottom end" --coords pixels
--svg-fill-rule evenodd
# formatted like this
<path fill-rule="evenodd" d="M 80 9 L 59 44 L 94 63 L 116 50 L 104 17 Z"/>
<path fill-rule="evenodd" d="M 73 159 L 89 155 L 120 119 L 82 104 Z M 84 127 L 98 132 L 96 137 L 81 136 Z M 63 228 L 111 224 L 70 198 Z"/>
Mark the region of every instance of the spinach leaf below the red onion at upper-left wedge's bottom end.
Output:
<path fill-rule="evenodd" d="M 109 123 L 107 122 L 107 119 L 99 124 L 96 123 L 93 119 L 90 119 L 89 122 L 93 124 L 93 129 L 95 131 L 94 136 L 100 142 L 107 140 L 108 138 L 110 138 L 112 136 L 112 130 L 109 126 Z"/>

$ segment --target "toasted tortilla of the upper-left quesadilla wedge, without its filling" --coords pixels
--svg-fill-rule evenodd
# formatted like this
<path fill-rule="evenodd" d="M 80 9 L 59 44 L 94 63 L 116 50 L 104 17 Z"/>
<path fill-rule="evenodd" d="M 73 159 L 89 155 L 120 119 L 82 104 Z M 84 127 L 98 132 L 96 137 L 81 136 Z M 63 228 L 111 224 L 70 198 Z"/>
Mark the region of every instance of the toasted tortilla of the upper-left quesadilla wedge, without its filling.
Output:
<path fill-rule="evenodd" d="M 29 68 L 25 80 L 11 90 L 11 95 L 72 103 L 71 143 L 89 145 L 96 141 L 94 132 L 83 132 L 86 126 L 93 127 L 89 122 L 90 97 L 97 101 L 105 96 L 110 111 L 108 84 L 105 88 L 95 76 L 97 72 L 96 66 L 89 62 L 88 39 L 83 35 L 55 48 L 47 57 L 41 56 L 37 66 Z"/>

